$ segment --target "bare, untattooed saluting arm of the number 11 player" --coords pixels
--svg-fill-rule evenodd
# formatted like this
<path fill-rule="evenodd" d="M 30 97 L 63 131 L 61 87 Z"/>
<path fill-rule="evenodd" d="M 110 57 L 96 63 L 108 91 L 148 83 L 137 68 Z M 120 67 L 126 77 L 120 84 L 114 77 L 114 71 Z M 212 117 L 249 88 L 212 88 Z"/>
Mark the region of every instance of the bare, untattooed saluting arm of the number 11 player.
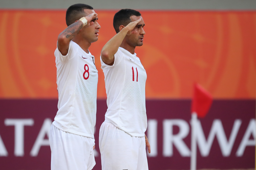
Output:
<path fill-rule="evenodd" d="M 124 37 L 126 35 L 137 33 L 137 31 L 132 31 L 132 30 L 140 21 L 141 19 L 138 19 L 136 21 L 130 22 L 127 26 L 121 25 L 119 27 L 120 32 L 117 33 L 113 38 L 111 38 L 101 50 L 101 59 L 104 63 L 108 65 L 114 64 L 114 61 L 115 61 L 114 54 L 116 54 L 119 46 L 124 40 Z"/>

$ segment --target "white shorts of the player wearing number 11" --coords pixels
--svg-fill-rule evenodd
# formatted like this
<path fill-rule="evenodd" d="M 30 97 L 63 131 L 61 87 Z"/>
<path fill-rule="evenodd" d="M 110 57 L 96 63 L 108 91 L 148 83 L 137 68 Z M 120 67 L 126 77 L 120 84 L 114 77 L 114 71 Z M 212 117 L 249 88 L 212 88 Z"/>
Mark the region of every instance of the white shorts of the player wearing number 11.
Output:
<path fill-rule="evenodd" d="M 99 145 L 102 170 L 148 170 L 145 137 L 132 137 L 103 122 Z"/>

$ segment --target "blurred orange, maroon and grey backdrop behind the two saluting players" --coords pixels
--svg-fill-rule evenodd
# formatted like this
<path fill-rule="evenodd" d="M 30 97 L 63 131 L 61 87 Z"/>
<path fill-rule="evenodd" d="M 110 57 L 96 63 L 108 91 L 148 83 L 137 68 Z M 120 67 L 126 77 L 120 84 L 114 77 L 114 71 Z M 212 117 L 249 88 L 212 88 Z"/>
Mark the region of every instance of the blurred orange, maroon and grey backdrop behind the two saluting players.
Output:
<path fill-rule="evenodd" d="M 1 170 L 49 170 L 49 129 L 58 110 L 54 51 L 66 9 L 91 5 L 101 26 L 89 48 L 99 71 L 94 150 L 107 110 L 100 50 L 115 35 L 114 14 L 140 11 L 147 71 L 150 170 L 190 168 L 193 85 L 213 96 L 199 119 L 197 169 L 255 168 L 255 0 L 0 0 Z"/>

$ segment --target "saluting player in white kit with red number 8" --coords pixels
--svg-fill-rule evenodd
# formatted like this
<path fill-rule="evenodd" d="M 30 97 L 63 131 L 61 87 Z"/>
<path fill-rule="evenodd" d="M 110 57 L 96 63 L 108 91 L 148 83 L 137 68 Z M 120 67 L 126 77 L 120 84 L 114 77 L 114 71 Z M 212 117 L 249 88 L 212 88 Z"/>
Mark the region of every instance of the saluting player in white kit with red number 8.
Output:
<path fill-rule="evenodd" d="M 58 112 L 50 129 L 52 170 L 91 170 L 96 123 L 98 71 L 88 48 L 98 40 L 100 25 L 93 8 L 71 5 L 67 28 L 55 50 Z"/>

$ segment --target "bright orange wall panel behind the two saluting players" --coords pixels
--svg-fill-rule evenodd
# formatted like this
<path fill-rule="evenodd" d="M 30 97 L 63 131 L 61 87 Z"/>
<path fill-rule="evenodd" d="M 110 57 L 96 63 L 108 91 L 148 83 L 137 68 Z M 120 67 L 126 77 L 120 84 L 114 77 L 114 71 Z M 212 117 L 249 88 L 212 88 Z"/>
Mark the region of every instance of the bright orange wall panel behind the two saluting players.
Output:
<path fill-rule="evenodd" d="M 99 40 L 89 48 L 106 98 L 100 50 L 115 35 L 116 11 L 97 11 Z M 215 99 L 255 99 L 256 12 L 140 11 L 147 99 L 191 98 L 198 82 Z M 0 98 L 58 98 L 54 50 L 65 11 L 0 10 Z"/>

